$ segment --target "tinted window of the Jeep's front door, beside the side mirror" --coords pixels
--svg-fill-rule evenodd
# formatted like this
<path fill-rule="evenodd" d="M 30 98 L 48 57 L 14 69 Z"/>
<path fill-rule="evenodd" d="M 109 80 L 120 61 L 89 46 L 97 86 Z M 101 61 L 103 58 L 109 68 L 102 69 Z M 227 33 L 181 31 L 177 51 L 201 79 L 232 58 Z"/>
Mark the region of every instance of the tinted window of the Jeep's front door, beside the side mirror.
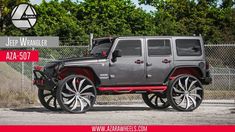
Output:
<path fill-rule="evenodd" d="M 120 50 L 122 56 L 141 56 L 141 41 L 119 40 L 116 50 Z"/>

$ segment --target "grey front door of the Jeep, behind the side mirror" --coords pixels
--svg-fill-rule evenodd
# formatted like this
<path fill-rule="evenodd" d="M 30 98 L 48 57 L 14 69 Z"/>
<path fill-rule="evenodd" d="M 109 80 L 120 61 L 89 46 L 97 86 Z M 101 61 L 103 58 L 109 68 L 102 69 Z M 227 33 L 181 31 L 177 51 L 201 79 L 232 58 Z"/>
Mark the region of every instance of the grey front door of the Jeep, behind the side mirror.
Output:
<path fill-rule="evenodd" d="M 114 50 L 121 57 L 110 63 L 110 78 L 114 85 L 138 85 L 146 79 L 143 39 L 118 39 Z M 111 60 L 110 60 L 111 61 Z"/>

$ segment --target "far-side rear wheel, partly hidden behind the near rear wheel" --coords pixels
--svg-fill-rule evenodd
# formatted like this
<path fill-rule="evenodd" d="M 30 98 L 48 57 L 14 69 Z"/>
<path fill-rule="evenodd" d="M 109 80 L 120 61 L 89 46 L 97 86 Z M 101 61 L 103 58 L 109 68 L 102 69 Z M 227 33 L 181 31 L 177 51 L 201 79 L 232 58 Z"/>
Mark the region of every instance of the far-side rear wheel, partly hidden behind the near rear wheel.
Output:
<path fill-rule="evenodd" d="M 165 109 L 170 106 L 166 95 L 162 93 L 144 93 L 142 98 L 145 104 L 152 109 Z"/>

